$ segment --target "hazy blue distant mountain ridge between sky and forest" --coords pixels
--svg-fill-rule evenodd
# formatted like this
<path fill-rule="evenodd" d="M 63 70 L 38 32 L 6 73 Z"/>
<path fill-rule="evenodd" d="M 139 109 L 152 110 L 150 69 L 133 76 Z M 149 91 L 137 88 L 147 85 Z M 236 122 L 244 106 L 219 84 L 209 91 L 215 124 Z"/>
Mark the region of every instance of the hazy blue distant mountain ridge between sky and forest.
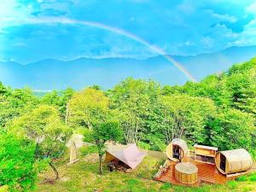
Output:
<path fill-rule="evenodd" d="M 256 46 L 232 47 L 218 53 L 172 56 L 183 64 L 195 79 L 219 73 L 234 63 L 256 56 Z M 62 90 L 67 87 L 82 89 L 92 84 L 108 89 L 127 77 L 154 79 L 161 84 L 184 84 L 187 80 L 162 55 L 147 60 L 107 58 L 79 58 L 73 61 L 47 59 L 22 65 L 17 62 L 0 62 L 0 81 L 14 88 L 24 86 L 34 90 Z"/>

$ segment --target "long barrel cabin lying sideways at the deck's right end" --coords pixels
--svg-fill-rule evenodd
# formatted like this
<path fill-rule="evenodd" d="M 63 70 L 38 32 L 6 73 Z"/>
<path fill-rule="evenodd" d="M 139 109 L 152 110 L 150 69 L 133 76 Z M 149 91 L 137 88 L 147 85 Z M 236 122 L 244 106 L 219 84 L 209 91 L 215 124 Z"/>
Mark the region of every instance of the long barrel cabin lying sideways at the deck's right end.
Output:
<path fill-rule="evenodd" d="M 244 148 L 219 151 L 215 157 L 218 171 L 228 176 L 233 173 L 247 172 L 253 166 L 251 155 Z"/>

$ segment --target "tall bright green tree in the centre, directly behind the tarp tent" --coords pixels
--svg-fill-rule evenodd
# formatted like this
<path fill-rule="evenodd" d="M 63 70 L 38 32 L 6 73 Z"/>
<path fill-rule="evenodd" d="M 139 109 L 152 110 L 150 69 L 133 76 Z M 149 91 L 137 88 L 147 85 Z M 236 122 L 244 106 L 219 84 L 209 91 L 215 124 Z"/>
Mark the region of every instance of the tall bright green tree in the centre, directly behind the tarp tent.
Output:
<path fill-rule="evenodd" d="M 156 111 L 160 85 L 154 81 L 125 79 L 109 91 L 111 107 L 119 111 L 126 143 L 137 143 L 145 135 L 157 132 Z"/>

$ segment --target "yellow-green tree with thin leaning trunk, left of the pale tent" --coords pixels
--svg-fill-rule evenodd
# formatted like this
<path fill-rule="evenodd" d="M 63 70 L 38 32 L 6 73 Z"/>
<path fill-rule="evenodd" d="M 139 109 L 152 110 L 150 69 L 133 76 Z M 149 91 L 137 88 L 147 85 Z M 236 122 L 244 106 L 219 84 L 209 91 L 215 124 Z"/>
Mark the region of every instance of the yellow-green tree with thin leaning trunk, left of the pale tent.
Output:
<path fill-rule="evenodd" d="M 64 154 L 72 131 L 61 121 L 57 109 L 48 105 L 38 106 L 31 113 L 15 119 L 10 127 L 11 131 L 36 143 L 35 157 L 38 160 L 49 160 L 55 179 L 58 179 L 55 160 Z"/>

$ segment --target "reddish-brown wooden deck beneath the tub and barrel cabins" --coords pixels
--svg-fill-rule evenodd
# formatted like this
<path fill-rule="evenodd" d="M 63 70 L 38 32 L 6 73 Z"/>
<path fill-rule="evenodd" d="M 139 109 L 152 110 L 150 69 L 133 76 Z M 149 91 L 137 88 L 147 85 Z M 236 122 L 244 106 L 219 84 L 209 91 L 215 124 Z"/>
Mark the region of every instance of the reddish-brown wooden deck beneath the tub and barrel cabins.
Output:
<path fill-rule="evenodd" d="M 190 162 L 198 167 L 198 182 L 191 186 L 200 186 L 201 183 L 223 184 L 237 177 L 225 177 L 220 172 L 218 172 L 216 166 L 212 164 L 198 162 L 190 158 L 184 158 L 183 162 Z M 161 182 L 184 185 L 183 183 L 179 183 L 175 179 L 175 165 L 177 164 L 177 162 L 173 162 L 170 160 L 170 163 L 171 166 L 167 169 L 167 171 L 165 173 L 162 173 L 160 177 L 154 179 Z"/>

